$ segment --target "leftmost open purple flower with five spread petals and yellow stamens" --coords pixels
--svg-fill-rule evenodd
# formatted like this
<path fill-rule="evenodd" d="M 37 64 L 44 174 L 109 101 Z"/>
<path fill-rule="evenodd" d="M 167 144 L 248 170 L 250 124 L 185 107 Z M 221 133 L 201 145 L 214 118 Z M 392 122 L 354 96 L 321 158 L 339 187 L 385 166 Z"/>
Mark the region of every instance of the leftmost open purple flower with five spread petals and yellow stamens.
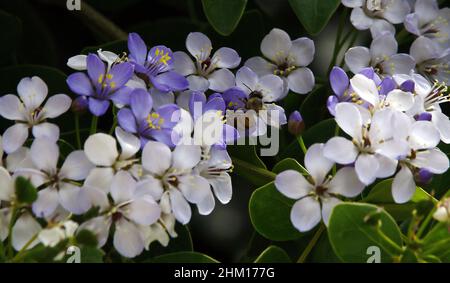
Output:
<path fill-rule="evenodd" d="M 74 93 L 88 99 L 89 110 L 95 116 L 102 116 L 109 108 L 109 101 L 118 105 L 129 103 L 131 88 L 125 86 L 133 75 L 130 63 L 115 63 L 108 68 L 97 55 L 89 54 L 86 60 L 87 75 L 77 72 L 67 78 L 67 84 Z"/>

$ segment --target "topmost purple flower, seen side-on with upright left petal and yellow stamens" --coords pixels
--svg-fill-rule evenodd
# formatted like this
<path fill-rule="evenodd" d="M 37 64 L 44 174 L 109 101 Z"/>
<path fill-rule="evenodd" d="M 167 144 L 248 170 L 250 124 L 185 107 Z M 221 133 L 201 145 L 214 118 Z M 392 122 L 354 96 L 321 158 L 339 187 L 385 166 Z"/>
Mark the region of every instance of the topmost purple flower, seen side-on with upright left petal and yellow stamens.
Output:
<path fill-rule="evenodd" d="M 147 50 L 147 46 L 137 33 L 128 36 L 130 62 L 135 67 L 135 73 L 147 85 L 154 86 L 162 92 L 183 91 L 189 83 L 185 77 L 172 71 L 172 51 L 163 45 Z"/>

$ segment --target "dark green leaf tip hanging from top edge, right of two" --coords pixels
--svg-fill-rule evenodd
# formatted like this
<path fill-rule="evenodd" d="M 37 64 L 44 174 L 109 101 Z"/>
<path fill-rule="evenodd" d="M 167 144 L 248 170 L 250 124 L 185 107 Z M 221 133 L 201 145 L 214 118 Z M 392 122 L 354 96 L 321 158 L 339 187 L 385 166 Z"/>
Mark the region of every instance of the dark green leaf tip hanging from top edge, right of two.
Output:
<path fill-rule="evenodd" d="M 312 35 L 322 31 L 340 3 L 340 0 L 289 0 L 297 18 Z"/>

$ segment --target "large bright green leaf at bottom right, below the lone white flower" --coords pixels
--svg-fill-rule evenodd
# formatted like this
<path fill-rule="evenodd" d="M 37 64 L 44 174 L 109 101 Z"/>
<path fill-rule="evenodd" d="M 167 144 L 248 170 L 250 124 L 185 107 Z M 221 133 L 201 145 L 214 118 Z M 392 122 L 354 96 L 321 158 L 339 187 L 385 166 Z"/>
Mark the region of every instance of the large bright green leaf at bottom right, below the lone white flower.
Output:
<path fill-rule="evenodd" d="M 367 249 L 372 246 L 380 249 L 381 262 L 391 262 L 396 251 L 377 229 L 401 247 L 400 229 L 384 210 L 371 204 L 341 203 L 331 213 L 328 236 L 334 252 L 344 262 L 367 262 L 371 256 Z"/>

